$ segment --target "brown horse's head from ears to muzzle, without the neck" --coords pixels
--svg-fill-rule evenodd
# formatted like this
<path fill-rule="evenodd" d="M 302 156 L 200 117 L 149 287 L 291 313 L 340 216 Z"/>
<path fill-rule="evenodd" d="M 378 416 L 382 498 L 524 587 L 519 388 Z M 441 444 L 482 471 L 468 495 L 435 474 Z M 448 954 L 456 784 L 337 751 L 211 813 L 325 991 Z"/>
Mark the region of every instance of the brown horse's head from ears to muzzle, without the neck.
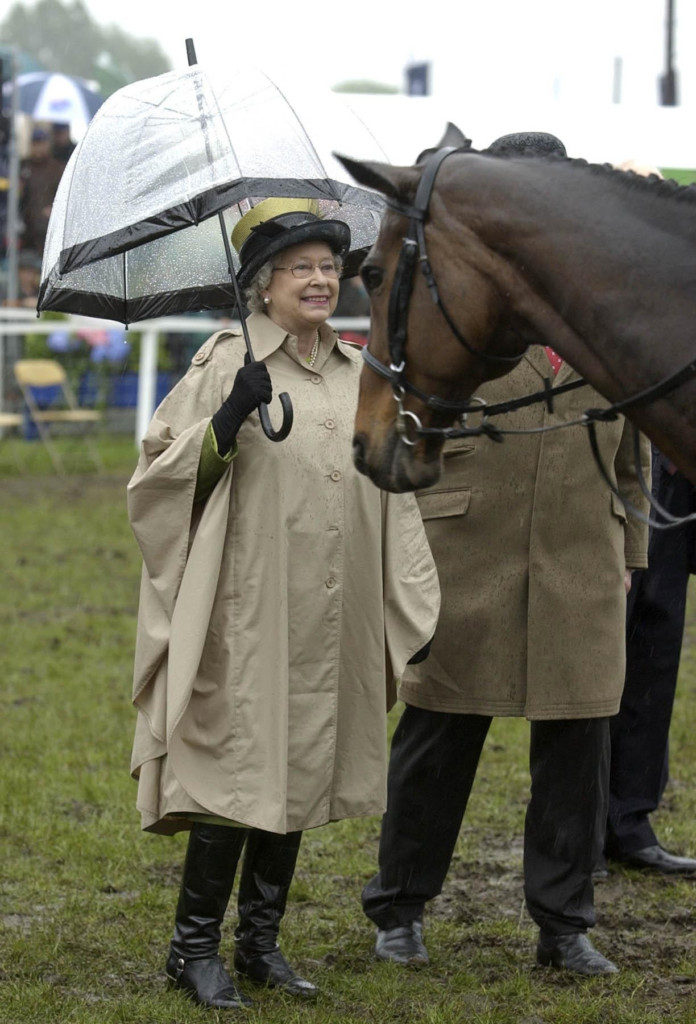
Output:
<path fill-rule="evenodd" d="M 415 167 L 339 158 L 388 206 L 361 268 L 372 319 L 353 437 L 356 467 L 387 490 L 414 490 L 437 480 L 444 438 L 436 430 L 452 424 L 480 384 L 508 373 L 527 344 L 516 333 L 520 325 L 510 315 L 499 281 L 491 276 L 490 252 L 475 230 L 454 220 L 446 183 L 432 187 L 442 155 L 469 148 L 456 133 L 449 126 L 443 142 L 454 145 L 425 151 Z M 424 187 L 425 208 L 414 219 Z M 416 233 L 422 225 L 420 251 L 418 239 L 408 237 L 409 222 Z M 434 294 L 441 301 L 434 303 Z M 409 429 L 416 426 L 418 433 Z"/>

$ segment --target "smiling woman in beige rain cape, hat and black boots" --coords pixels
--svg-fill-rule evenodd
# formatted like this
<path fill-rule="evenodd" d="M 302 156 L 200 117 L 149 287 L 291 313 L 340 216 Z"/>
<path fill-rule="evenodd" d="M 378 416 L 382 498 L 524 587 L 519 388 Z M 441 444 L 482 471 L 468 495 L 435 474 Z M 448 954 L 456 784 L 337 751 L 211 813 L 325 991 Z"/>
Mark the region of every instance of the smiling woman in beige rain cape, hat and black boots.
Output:
<path fill-rule="evenodd" d="M 379 814 L 393 683 L 434 632 L 437 574 L 410 495 L 353 469 L 359 353 L 327 324 L 346 224 L 267 200 L 235 227 L 258 358 L 221 331 L 157 410 L 129 484 L 143 556 L 132 771 L 142 825 L 189 829 L 167 975 L 248 1005 L 219 955 L 240 857 L 237 974 L 315 987 L 277 934 L 302 829 Z M 256 412 L 290 393 L 270 443 Z"/>

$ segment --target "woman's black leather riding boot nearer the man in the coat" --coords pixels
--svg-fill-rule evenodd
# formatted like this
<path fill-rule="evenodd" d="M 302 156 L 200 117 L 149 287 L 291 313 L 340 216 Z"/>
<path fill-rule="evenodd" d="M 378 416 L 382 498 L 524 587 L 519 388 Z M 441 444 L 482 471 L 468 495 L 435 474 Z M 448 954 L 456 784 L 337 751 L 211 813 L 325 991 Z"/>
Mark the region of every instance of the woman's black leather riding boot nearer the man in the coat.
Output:
<path fill-rule="evenodd" d="M 313 998 L 316 986 L 293 971 L 277 944 L 301 839 L 301 831 L 250 833 L 240 882 L 234 969 L 260 985 Z"/>

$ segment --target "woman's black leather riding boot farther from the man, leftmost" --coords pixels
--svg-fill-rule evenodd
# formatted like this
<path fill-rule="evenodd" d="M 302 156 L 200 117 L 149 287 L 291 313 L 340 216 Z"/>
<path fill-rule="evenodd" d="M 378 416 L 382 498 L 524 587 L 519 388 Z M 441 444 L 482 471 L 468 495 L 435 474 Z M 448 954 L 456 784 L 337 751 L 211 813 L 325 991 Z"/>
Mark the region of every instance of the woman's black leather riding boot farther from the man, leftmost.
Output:
<path fill-rule="evenodd" d="M 246 838 L 246 828 L 197 822 L 183 865 L 167 977 L 195 1002 L 216 1010 L 251 1006 L 218 953 L 220 925 Z"/>

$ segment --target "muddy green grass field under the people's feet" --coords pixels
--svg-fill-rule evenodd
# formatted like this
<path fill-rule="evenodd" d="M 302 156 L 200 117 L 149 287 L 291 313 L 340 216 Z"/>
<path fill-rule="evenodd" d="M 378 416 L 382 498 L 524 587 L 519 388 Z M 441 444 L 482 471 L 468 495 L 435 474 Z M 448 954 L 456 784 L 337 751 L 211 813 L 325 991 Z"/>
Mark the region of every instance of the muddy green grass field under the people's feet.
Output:
<path fill-rule="evenodd" d="M 0 444 L 0 1021 L 215 1020 L 165 989 L 185 841 L 139 831 L 128 774 L 139 574 L 124 500 L 132 442 L 104 443 L 103 476 L 63 479 L 39 447 L 28 462 L 28 447 Z M 23 465 L 32 472 L 20 475 Z M 668 848 L 696 852 L 693 604 L 688 629 L 672 779 L 656 823 Z M 581 980 L 534 967 L 521 876 L 527 735 L 523 721 L 491 730 L 449 879 L 427 918 L 431 967 L 372 957 L 359 893 L 379 821 L 318 828 L 300 852 L 282 939 L 322 994 L 297 1006 L 261 991 L 245 1019 L 694 1024 L 694 883 L 614 867 L 597 889 L 594 939 L 620 974 Z M 233 924 L 232 907 L 225 954 Z"/>

